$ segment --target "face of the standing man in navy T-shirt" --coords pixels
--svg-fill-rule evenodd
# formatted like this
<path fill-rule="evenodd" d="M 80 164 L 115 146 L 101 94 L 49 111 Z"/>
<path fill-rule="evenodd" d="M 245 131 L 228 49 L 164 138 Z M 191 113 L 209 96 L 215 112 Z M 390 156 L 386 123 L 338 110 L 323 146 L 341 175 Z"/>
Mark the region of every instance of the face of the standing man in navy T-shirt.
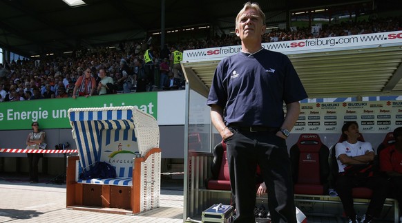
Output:
<path fill-rule="evenodd" d="M 265 33 L 265 25 L 262 25 L 262 19 L 257 10 L 249 8 L 239 17 L 236 35 L 242 41 L 258 40 Z"/>

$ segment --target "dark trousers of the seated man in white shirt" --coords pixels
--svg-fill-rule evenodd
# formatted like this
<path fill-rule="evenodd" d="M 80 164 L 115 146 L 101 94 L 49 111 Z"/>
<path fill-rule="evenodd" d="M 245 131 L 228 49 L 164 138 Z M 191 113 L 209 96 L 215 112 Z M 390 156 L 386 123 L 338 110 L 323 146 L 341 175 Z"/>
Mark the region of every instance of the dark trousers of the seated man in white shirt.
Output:
<path fill-rule="evenodd" d="M 387 179 L 381 176 L 361 178 L 356 176 L 338 176 L 336 180 L 336 192 L 341 198 L 345 215 L 352 217 L 356 215 L 353 207 L 352 189 L 354 187 L 367 187 L 372 189 L 373 194 L 366 214 L 379 217 L 383 209 L 387 192 L 390 189 Z"/>

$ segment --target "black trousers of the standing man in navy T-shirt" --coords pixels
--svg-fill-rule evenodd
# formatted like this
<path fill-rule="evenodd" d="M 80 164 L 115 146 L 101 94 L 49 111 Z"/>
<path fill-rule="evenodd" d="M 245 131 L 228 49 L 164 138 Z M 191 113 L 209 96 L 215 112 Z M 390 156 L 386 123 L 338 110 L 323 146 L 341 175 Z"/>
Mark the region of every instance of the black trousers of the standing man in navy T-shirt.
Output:
<path fill-rule="evenodd" d="M 272 222 L 296 222 L 291 162 L 285 140 L 273 132 L 229 129 L 234 133 L 225 141 L 231 192 L 236 202 L 234 222 L 255 222 L 257 164 L 267 185 Z"/>

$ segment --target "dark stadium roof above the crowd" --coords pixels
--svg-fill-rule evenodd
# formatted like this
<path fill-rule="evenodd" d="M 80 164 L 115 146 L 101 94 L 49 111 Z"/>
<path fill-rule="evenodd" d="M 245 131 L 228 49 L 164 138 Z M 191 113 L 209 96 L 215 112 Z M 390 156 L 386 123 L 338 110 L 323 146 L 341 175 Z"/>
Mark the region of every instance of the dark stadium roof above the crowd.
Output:
<path fill-rule="evenodd" d="M 106 43 L 146 39 L 146 32 L 161 28 L 162 0 L 84 2 L 84 6 L 70 7 L 63 0 L 0 1 L 0 47 L 23 56 L 66 52 L 77 45 L 90 48 Z M 164 2 L 166 30 L 195 25 L 227 29 L 234 27 L 233 21 L 245 0 Z M 286 22 L 287 12 L 291 10 L 327 6 L 344 6 L 350 10 L 370 5 L 372 1 L 327 0 L 325 6 L 319 0 L 258 2 L 267 15 L 267 24 L 278 24 Z"/>

